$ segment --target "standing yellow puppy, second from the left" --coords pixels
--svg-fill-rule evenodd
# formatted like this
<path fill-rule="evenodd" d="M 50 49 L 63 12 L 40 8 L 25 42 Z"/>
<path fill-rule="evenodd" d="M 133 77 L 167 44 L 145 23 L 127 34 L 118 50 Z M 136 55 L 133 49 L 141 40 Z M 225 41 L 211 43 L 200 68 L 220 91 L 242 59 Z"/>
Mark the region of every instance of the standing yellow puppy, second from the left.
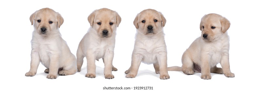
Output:
<path fill-rule="evenodd" d="M 77 70 L 81 71 L 84 57 L 87 59 L 86 77 L 95 78 L 95 60 L 103 59 L 105 64 L 104 76 L 107 79 L 113 79 L 111 71 L 117 71 L 112 65 L 114 57 L 116 28 L 121 22 L 121 17 L 117 12 L 108 8 L 102 8 L 93 11 L 88 16 L 90 28 L 78 45 Z"/>

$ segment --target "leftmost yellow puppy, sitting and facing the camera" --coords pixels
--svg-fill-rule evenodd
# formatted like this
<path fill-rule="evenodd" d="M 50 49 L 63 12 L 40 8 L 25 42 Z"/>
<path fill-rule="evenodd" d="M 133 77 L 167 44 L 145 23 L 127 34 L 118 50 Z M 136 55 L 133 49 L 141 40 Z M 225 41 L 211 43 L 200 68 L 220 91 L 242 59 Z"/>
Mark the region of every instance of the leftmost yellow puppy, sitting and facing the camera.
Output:
<path fill-rule="evenodd" d="M 61 15 L 50 8 L 42 8 L 30 16 L 34 25 L 31 40 L 30 71 L 26 76 L 34 76 L 41 62 L 47 69 L 47 78 L 56 79 L 59 75 L 77 72 L 76 58 L 61 37 L 59 28 L 63 24 Z"/>

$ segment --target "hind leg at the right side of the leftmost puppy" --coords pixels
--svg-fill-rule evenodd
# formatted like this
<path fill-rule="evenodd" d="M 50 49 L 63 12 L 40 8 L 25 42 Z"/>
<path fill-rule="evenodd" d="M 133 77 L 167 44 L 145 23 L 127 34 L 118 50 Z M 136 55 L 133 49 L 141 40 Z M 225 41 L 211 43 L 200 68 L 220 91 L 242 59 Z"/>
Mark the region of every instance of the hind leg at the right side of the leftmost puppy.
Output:
<path fill-rule="evenodd" d="M 74 55 L 72 55 L 70 58 L 71 59 L 68 60 L 72 61 L 70 63 L 67 63 L 67 65 L 64 66 L 60 72 L 58 72 L 59 75 L 71 75 L 77 72 L 76 58 Z"/>

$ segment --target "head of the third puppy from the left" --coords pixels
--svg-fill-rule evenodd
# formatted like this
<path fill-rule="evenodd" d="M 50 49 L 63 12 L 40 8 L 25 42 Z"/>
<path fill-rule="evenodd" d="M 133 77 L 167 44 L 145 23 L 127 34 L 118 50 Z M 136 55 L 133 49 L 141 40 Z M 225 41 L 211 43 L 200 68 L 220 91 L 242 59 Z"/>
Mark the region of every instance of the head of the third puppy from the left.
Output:
<path fill-rule="evenodd" d="M 146 9 L 141 11 L 133 21 L 138 32 L 151 36 L 162 32 L 166 19 L 162 13 L 154 9 Z"/>

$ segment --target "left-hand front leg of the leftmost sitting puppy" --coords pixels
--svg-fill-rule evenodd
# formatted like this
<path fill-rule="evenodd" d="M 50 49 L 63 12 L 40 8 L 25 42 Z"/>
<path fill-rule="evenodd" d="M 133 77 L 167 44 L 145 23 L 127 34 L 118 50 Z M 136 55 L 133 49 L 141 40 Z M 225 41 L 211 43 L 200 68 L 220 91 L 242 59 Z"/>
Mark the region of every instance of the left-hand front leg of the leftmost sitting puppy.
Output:
<path fill-rule="evenodd" d="M 30 71 L 25 74 L 25 76 L 34 76 L 37 72 L 37 68 L 40 63 L 39 53 L 35 52 L 33 49 L 31 51 L 31 62 L 30 62 Z"/>

